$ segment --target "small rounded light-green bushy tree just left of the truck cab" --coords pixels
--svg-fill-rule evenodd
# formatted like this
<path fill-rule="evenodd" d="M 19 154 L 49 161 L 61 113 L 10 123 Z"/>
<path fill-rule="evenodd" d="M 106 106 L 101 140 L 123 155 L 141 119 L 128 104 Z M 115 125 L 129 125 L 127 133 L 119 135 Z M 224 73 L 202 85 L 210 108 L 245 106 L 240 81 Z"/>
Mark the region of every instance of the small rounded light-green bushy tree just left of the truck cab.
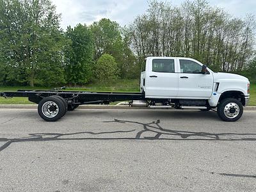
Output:
<path fill-rule="evenodd" d="M 93 68 L 97 81 L 110 81 L 118 77 L 118 67 L 115 58 L 110 54 L 102 54 Z"/>

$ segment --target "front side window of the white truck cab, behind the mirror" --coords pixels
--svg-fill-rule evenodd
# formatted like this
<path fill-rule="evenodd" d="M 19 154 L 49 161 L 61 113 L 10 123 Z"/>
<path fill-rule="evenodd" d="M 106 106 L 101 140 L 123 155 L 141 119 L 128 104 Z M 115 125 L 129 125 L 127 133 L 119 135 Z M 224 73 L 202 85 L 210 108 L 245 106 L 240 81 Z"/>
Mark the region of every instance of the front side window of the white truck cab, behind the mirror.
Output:
<path fill-rule="evenodd" d="M 180 72 L 184 74 L 200 74 L 202 66 L 195 61 L 180 60 Z"/>

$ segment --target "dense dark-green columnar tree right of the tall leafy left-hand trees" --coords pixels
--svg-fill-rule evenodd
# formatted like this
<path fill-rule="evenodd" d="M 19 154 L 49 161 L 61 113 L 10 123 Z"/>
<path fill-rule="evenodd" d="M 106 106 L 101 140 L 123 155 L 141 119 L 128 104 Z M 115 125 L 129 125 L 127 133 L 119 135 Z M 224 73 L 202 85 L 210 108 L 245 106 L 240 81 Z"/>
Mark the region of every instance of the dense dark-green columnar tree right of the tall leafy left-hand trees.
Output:
<path fill-rule="evenodd" d="M 65 33 L 65 76 L 69 84 L 84 84 L 92 78 L 93 38 L 90 29 L 78 24 Z"/>

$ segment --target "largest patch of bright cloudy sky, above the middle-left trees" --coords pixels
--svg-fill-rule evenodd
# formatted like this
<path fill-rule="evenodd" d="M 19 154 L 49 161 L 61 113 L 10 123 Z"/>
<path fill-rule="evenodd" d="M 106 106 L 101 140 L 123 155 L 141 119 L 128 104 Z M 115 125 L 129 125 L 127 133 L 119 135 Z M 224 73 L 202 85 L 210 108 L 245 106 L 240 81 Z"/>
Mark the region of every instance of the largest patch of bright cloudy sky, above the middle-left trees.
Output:
<path fill-rule="evenodd" d="M 63 29 L 78 23 L 89 25 L 105 17 L 125 25 L 147 8 L 145 0 L 52 0 L 52 3 L 56 5 L 57 12 L 61 13 Z"/>

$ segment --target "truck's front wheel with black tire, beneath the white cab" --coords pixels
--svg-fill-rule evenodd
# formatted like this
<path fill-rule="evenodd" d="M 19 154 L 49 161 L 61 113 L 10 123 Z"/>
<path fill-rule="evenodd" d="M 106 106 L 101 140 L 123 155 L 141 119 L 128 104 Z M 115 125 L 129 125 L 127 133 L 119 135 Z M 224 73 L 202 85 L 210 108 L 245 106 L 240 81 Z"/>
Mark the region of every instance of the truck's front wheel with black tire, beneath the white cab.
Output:
<path fill-rule="evenodd" d="M 236 122 L 243 115 L 243 104 L 234 98 L 223 99 L 220 101 L 217 112 L 221 120 Z"/>

